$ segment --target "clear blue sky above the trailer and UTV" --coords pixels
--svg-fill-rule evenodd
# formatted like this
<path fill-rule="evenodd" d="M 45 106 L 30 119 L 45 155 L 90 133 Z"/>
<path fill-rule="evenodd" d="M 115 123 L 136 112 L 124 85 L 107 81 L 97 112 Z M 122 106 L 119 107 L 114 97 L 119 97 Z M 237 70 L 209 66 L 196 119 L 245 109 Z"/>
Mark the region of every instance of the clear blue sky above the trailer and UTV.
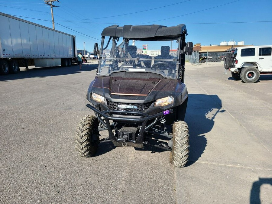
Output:
<path fill-rule="evenodd" d="M 112 24 L 186 24 L 186 41 L 193 44 L 219 45 L 231 39 L 272 44 L 272 0 L 59 0 L 53 5 L 59 6 L 53 8 L 55 29 L 75 35 L 77 49 L 85 42 L 88 51 Z M 0 11 L 52 28 L 50 6 L 42 0 L 0 0 Z"/>

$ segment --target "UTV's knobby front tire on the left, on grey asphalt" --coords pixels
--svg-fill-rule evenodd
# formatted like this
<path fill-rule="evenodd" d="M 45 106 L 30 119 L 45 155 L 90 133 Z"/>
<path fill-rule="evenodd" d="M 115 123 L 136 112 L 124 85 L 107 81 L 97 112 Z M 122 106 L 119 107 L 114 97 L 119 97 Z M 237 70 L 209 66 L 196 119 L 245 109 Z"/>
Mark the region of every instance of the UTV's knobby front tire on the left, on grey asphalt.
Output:
<path fill-rule="evenodd" d="M 98 119 L 85 115 L 76 128 L 76 151 L 81 157 L 93 157 L 99 143 Z"/>

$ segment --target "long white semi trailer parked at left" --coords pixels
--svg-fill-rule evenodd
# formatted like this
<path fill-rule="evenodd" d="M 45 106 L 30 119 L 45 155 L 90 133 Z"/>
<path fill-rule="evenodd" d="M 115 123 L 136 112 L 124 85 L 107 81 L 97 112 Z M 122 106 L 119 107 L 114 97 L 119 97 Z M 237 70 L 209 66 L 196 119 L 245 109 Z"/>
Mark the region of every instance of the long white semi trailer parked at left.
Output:
<path fill-rule="evenodd" d="M 76 37 L 0 12 L 0 74 L 19 66 L 71 66 Z"/>

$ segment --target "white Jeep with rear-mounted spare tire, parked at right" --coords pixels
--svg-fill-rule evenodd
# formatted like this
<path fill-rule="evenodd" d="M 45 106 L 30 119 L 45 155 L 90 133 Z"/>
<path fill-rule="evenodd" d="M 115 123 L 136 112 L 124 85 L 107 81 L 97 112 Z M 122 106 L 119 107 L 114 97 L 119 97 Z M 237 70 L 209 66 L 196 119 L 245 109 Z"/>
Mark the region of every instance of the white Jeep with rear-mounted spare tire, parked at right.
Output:
<path fill-rule="evenodd" d="M 224 57 L 224 68 L 235 80 L 255 83 L 260 74 L 272 74 L 272 45 L 232 48 Z"/>

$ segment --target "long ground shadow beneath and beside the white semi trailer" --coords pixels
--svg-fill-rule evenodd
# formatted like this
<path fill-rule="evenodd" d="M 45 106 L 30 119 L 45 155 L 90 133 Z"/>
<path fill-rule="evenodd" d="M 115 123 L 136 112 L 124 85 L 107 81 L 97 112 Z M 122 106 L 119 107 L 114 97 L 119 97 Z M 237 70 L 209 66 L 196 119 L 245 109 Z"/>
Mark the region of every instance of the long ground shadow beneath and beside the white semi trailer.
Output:
<path fill-rule="evenodd" d="M 0 75 L 0 81 L 13 81 L 17 79 L 28 79 L 28 78 L 43 78 L 49 76 L 60 76 L 75 74 L 84 71 L 91 71 L 97 69 L 98 64 L 83 64 L 82 69 L 79 70 L 79 65 L 69 67 L 34 67 L 29 66 L 28 69 L 20 67 L 20 72 L 16 74 Z"/>

